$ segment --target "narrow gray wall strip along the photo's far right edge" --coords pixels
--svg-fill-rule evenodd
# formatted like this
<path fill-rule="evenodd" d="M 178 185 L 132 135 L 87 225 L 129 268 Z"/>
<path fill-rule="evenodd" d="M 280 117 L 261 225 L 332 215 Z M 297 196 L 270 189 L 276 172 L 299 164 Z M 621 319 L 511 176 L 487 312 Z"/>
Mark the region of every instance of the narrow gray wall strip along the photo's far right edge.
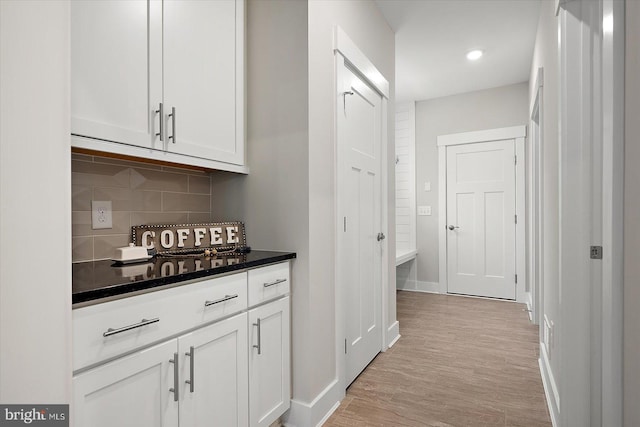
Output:
<path fill-rule="evenodd" d="M 625 195 L 624 195 L 624 425 L 640 425 L 640 2 L 626 3 Z M 633 95 L 631 95 L 633 94 Z"/>

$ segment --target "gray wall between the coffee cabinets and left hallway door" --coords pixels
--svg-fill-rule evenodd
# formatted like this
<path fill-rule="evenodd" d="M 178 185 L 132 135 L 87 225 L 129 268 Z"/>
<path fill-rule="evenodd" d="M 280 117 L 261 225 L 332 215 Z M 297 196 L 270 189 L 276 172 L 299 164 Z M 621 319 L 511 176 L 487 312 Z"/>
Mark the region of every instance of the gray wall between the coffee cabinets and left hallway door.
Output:
<path fill-rule="evenodd" d="M 242 219 L 255 249 L 296 251 L 292 278 L 290 422 L 316 425 L 335 390 L 335 140 L 333 34 L 340 25 L 391 82 L 394 34 L 372 1 L 247 2 L 248 176 L 212 175 L 211 214 Z M 393 109 L 388 112 L 393 171 Z M 395 235 L 389 174 L 388 236 Z M 389 239 L 390 253 L 395 241 Z M 395 322 L 395 258 L 387 324 Z M 344 390 L 342 391 L 344 393 Z M 331 400 L 334 399 L 334 400 Z"/>

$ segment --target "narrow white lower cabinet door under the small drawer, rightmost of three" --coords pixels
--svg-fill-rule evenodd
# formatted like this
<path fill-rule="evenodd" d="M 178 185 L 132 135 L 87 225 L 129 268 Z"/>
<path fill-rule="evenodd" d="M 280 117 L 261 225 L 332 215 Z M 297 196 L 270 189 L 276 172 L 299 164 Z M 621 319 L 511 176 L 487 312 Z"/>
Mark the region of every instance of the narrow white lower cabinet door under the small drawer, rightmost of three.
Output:
<path fill-rule="evenodd" d="M 249 311 L 249 421 L 269 426 L 290 406 L 289 297 Z"/>

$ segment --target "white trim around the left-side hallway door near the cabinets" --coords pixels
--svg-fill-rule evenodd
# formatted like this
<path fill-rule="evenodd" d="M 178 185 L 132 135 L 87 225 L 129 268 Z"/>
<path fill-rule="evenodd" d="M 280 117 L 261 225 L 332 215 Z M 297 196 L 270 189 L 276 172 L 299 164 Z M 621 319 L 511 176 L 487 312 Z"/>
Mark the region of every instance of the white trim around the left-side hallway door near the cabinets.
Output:
<path fill-rule="evenodd" d="M 334 140 L 334 164 L 336 165 L 334 170 L 334 218 L 335 218 L 335 229 L 334 229 L 334 244 L 335 244 L 335 271 L 334 271 L 334 282 L 335 282 L 335 344 L 336 344 L 336 383 L 338 385 L 338 394 L 339 399 L 342 400 L 346 395 L 346 388 L 348 384 L 346 384 L 346 361 L 345 361 L 345 353 L 344 353 L 344 337 L 346 336 L 346 318 L 344 312 L 346 310 L 344 303 L 344 295 L 341 292 L 341 288 L 338 286 L 340 283 L 340 262 L 341 262 L 341 252 L 338 247 L 339 242 L 339 230 L 341 225 L 340 219 L 340 193 L 339 193 L 339 177 L 340 177 L 340 168 L 339 168 L 339 146 L 338 146 L 338 101 L 339 96 L 343 92 L 343 88 L 339 87 L 339 67 L 348 66 L 352 70 L 355 70 L 360 77 L 378 94 L 381 96 L 381 126 L 380 126 L 380 227 L 381 231 L 387 236 L 385 240 L 382 241 L 382 260 L 381 260 L 381 271 L 380 271 L 380 304 L 381 304 L 381 322 L 380 325 L 380 351 L 385 351 L 389 348 L 389 341 L 394 341 L 397 339 L 396 336 L 387 336 L 390 335 L 390 331 L 397 329 L 397 321 L 396 319 L 388 319 L 389 317 L 389 302 L 392 299 L 390 296 L 390 292 L 388 292 L 389 287 L 389 247 L 390 239 L 394 238 L 389 234 L 389 185 L 388 185 L 388 176 L 389 176 L 389 158 L 388 158 L 388 120 L 387 117 L 389 112 L 389 81 L 378 71 L 378 69 L 373 65 L 373 63 L 367 58 L 367 56 L 358 48 L 358 46 L 351 40 L 351 38 L 340 28 L 339 26 L 334 27 L 334 129 L 333 129 L 333 140 Z M 395 265 L 395 250 L 393 254 L 394 265 Z M 395 271 L 395 270 L 394 270 Z M 395 289 L 394 289 L 395 292 Z M 395 293 L 393 294 L 395 295 Z M 391 320 L 391 321 L 390 321 Z"/>

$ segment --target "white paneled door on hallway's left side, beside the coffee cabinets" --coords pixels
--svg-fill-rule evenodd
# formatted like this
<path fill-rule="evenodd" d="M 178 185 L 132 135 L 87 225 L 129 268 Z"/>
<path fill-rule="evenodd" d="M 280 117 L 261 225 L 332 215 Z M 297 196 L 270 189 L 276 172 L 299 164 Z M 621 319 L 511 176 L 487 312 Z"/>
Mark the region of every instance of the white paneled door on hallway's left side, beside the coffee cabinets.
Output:
<path fill-rule="evenodd" d="M 339 76 L 340 280 L 345 298 L 346 384 L 382 347 L 380 138 L 382 98 L 345 66 Z"/>

